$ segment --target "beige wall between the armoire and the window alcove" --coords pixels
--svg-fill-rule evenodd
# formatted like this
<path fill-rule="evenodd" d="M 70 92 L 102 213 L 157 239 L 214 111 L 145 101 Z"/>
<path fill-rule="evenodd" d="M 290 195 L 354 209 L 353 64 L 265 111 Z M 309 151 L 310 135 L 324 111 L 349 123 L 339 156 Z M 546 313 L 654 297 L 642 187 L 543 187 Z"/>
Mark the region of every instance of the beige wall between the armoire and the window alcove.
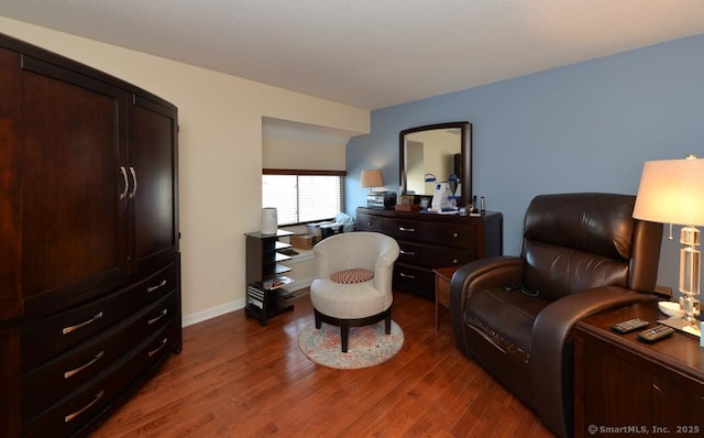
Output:
<path fill-rule="evenodd" d="M 370 112 L 0 17 L 1 32 L 140 86 L 179 110 L 185 324 L 244 304 L 243 233 L 260 229 L 262 120 L 369 133 Z"/>

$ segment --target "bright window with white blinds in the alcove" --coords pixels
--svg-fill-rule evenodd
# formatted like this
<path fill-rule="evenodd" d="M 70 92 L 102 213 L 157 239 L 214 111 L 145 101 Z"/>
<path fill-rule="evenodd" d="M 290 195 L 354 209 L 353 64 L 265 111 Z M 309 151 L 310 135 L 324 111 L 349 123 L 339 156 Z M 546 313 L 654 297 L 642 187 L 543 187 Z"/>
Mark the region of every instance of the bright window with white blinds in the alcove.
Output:
<path fill-rule="evenodd" d="M 264 169 L 262 207 L 276 207 L 279 226 L 334 218 L 344 204 L 344 175 L 339 171 Z"/>

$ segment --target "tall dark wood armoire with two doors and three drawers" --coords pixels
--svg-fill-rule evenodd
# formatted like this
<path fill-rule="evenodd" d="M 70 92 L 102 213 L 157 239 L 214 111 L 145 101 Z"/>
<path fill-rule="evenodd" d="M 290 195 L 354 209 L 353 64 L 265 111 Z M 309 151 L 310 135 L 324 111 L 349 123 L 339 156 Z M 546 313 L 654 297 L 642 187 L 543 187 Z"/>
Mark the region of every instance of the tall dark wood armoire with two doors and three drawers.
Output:
<path fill-rule="evenodd" d="M 177 110 L 0 34 L 0 436 L 85 435 L 182 348 Z"/>

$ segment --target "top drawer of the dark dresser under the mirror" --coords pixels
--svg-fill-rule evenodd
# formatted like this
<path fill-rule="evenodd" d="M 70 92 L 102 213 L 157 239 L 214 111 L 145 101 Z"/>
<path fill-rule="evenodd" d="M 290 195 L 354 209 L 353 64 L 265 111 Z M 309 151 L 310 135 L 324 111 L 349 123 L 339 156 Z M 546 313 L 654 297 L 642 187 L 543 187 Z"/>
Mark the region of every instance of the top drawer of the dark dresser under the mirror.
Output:
<path fill-rule="evenodd" d="M 440 247 L 476 248 L 476 227 L 463 222 L 384 220 L 382 232 L 397 240 L 414 240 Z"/>

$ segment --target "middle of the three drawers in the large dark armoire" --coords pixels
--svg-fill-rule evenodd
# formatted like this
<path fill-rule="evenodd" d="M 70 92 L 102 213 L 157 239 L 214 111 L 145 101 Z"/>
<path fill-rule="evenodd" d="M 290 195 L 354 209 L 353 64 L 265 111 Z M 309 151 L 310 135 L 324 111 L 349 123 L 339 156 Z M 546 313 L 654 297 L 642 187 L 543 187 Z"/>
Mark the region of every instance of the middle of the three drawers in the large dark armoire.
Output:
<path fill-rule="evenodd" d="M 123 322 L 24 374 L 22 417 L 29 420 L 105 372 L 122 354 L 148 338 L 178 313 L 178 291 L 151 304 Z"/>

